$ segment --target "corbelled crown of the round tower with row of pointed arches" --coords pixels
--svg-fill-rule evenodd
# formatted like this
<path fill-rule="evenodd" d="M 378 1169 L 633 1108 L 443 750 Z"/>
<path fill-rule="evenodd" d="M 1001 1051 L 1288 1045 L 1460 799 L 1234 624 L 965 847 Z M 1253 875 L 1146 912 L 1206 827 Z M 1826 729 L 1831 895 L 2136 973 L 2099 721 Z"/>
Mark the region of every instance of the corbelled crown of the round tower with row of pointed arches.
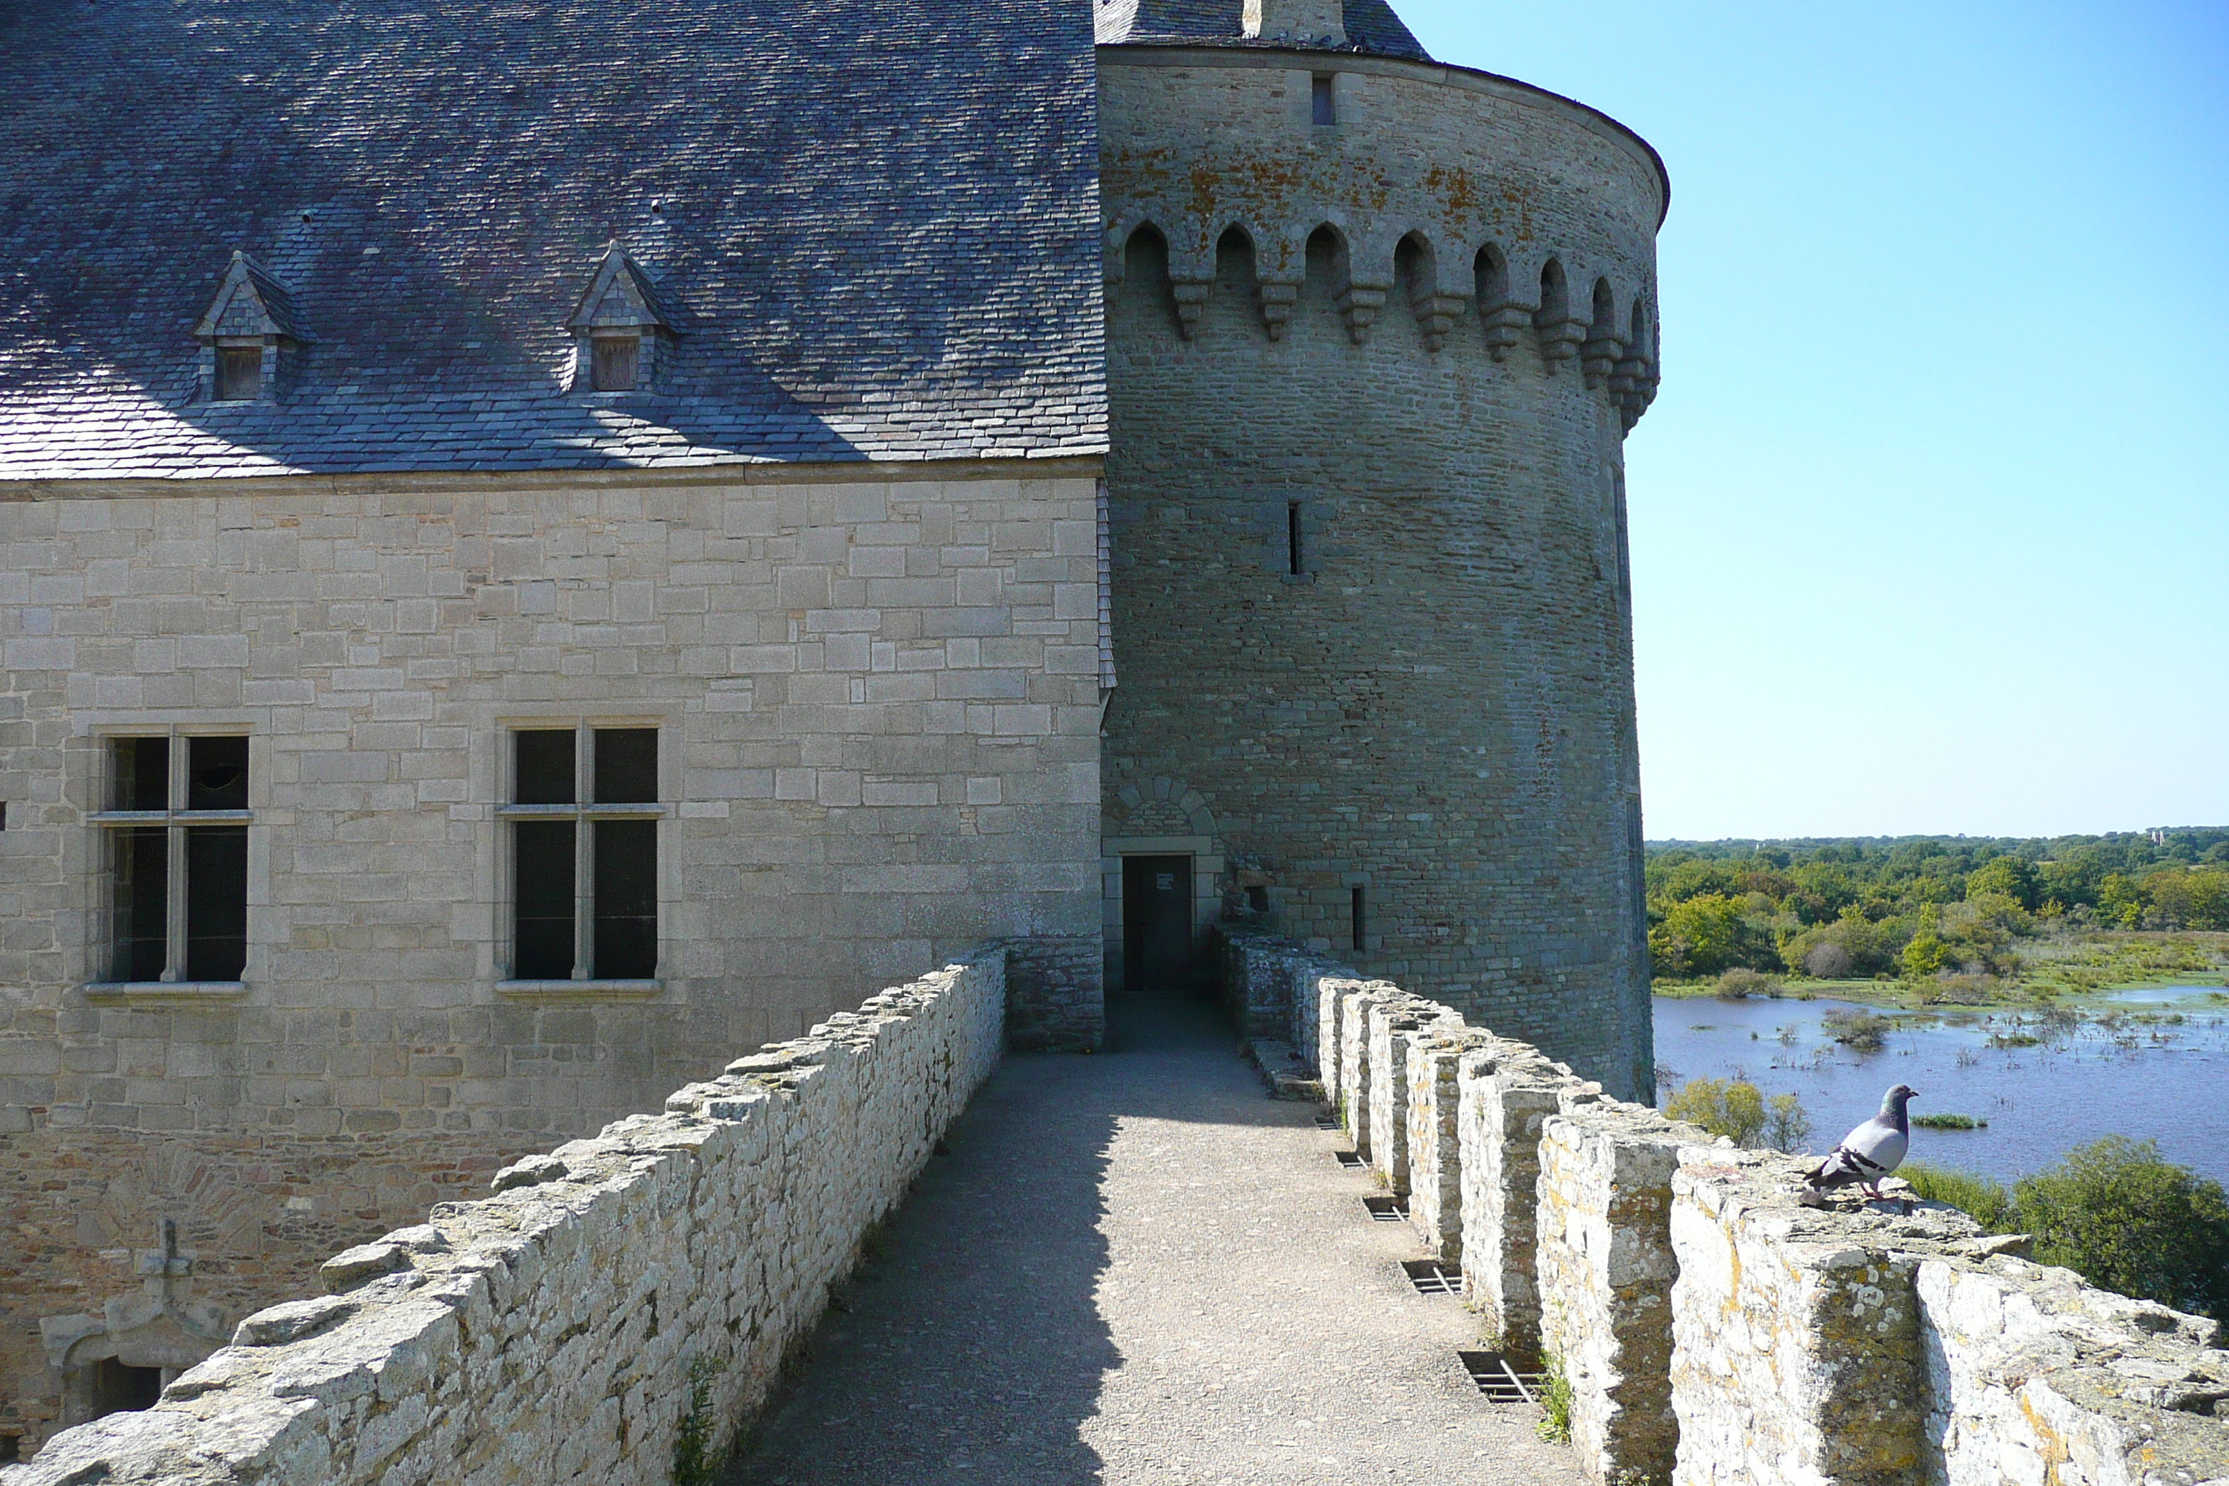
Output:
<path fill-rule="evenodd" d="M 1284 341 L 1315 283 L 1357 348 L 1531 341 L 1625 428 L 1656 394 L 1663 165 L 1589 109 L 1395 58 L 1114 51 L 1101 131 L 1110 307 L 1195 341 L 1228 287 Z"/>

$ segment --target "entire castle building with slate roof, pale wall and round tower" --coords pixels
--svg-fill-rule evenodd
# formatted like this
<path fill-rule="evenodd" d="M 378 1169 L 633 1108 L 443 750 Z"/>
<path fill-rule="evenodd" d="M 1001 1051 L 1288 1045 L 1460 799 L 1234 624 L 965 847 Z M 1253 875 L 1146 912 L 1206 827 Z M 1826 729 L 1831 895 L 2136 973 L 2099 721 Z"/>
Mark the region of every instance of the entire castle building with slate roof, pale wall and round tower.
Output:
<path fill-rule="evenodd" d="M 1656 154 L 1382 0 L 0 20 L 0 1448 L 1003 940 L 1652 1085 Z"/>

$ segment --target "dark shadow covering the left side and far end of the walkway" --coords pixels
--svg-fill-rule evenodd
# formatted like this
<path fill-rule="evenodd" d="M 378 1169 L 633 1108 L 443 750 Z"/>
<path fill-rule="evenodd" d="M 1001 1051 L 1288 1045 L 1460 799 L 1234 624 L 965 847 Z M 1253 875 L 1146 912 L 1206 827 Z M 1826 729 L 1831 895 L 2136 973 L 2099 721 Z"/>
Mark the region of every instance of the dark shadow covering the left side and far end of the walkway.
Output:
<path fill-rule="evenodd" d="M 1108 1049 L 1012 1054 L 878 1232 L 729 1486 L 1099 1482 L 1079 1437 L 1121 1366 L 1097 1301 L 1123 1116 L 1293 1123 L 1213 1005 L 1121 998 Z M 1201 1107 L 1201 1085 L 1224 1098 Z"/>

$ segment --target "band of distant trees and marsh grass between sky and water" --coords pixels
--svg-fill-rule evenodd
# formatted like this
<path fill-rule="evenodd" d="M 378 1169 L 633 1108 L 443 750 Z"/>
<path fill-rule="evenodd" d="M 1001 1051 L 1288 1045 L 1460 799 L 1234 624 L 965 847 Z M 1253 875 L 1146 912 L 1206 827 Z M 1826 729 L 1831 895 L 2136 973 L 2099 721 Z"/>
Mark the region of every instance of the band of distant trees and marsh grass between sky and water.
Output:
<path fill-rule="evenodd" d="M 1661 994 L 1993 1005 L 2229 969 L 2229 829 L 1647 856 Z"/>

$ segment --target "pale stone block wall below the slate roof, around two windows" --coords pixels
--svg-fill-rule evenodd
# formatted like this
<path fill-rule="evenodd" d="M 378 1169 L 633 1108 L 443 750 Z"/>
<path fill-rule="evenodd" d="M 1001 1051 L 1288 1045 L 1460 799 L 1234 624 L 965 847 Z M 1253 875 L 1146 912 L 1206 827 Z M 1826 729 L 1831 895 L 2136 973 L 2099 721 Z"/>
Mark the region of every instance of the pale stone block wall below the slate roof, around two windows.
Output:
<path fill-rule="evenodd" d="M 165 1219 L 236 1319 L 1001 936 L 1016 1040 L 1097 1038 L 1092 463 L 38 497 L 0 501 L 0 1223 L 40 1236 L 0 1433 L 65 1419 L 40 1321 L 136 1294 Z M 658 729 L 644 982 L 508 980 L 508 729 L 575 720 Z M 247 735 L 241 985 L 107 985 L 87 818 L 149 729 Z"/>

